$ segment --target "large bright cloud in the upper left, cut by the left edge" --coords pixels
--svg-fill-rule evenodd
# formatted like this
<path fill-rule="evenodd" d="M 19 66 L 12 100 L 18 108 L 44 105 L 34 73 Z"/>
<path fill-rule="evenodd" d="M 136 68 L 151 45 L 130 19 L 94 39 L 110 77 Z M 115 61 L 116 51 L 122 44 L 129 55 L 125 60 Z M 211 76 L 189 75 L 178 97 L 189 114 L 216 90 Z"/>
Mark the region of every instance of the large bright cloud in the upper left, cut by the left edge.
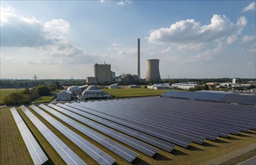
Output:
<path fill-rule="evenodd" d="M 17 15 L 13 7 L 1 6 L 1 46 L 46 46 L 65 40 L 70 25 L 65 20 L 42 23 Z"/>

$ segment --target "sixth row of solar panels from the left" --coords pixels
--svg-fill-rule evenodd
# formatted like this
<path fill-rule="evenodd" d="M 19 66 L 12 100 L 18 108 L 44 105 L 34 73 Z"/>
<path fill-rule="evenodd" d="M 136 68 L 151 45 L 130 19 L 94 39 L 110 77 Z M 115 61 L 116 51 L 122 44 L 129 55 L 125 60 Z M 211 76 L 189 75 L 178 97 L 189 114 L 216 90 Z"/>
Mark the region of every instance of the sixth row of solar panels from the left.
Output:
<path fill-rule="evenodd" d="M 106 119 L 98 117 L 96 115 L 92 115 L 92 114 L 80 111 L 80 109 L 82 109 L 80 107 L 78 107 L 77 109 L 74 109 L 73 107 L 68 107 L 67 105 L 64 105 L 64 104 L 57 104 L 57 106 L 63 107 L 66 110 L 69 110 L 71 112 L 83 115 L 86 118 L 90 118 L 90 119 L 92 119 L 94 121 L 97 121 L 98 123 L 107 125 L 107 127 L 112 127 L 115 130 L 119 130 L 122 133 L 126 133 L 126 134 L 128 134 L 130 136 L 133 136 L 133 137 L 135 137 L 137 139 L 142 140 L 143 142 L 147 142 L 147 143 L 149 143 L 151 145 L 154 145 L 154 146 L 156 146 L 158 148 L 161 148 L 164 151 L 172 151 L 174 146 L 175 146 L 175 145 L 171 144 L 170 142 L 166 142 L 164 140 L 155 138 L 154 136 L 150 136 L 150 135 L 148 135 L 146 133 L 142 133 L 140 131 L 131 129 L 129 127 L 125 127 L 125 126 L 123 126 L 121 124 L 117 124 L 117 123 L 115 123 L 113 121 L 106 120 Z M 88 110 L 87 112 L 91 112 L 91 111 L 92 110 Z"/>

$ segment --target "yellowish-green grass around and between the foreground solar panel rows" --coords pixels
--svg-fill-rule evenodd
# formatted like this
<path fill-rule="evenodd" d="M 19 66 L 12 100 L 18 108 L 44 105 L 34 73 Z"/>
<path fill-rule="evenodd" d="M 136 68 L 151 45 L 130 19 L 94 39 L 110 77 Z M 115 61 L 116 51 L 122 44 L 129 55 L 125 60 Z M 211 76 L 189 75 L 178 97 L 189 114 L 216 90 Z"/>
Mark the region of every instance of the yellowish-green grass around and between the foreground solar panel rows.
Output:
<path fill-rule="evenodd" d="M 39 130 L 32 124 L 32 121 L 17 107 L 18 112 L 22 116 L 23 120 L 26 122 L 29 129 L 34 134 L 35 138 L 40 143 L 43 150 L 47 153 L 49 158 L 48 164 L 63 164 L 64 161 L 59 154 L 53 149 L 49 142 L 44 139 L 44 136 L 39 132 Z M 30 109 L 56 136 L 59 136 L 63 142 L 65 142 L 78 156 L 80 156 L 87 164 L 96 164 L 95 160 L 89 157 L 84 151 L 74 145 L 70 139 L 65 137 L 62 133 L 59 132 L 55 127 L 53 127 L 47 120 L 35 113 L 34 110 Z M 42 109 L 43 110 L 43 109 Z M 47 113 L 47 111 L 43 110 Z M 48 113 L 51 115 L 50 113 Z M 53 118 L 56 118 L 54 115 Z M 65 124 L 59 118 L 56 118 L 62 124 Z M 78 121 L 80 124 L 80 121 Z M 86 127 L 89 127 L 86 124 L 83 124 Z M 68 124 L 65 124 L 66 127 L 73 130 L 75 133 L 78 133 L 84 139 L 91 142 L 96 147 L 100 148 L 102 151 L 109 154 L 111 157 L 116 159 L 117 164 L 130 164 L 128 161 L 122 159 L 118 155 L 114 154 L 109 149 L 105 148 L 103 145 L 100 145 L 98 142 L 95 142 L 93 139 L 90 139 L 88 136 L 84 135 L 80 131 L 74 129 Z M 92 130 L 95 130 L 92 127 L 89 127 Z M 98 133 L 98 130 L 95 130 Z M 101 133 L 103 134 L 103 133 Z M 107 136 L 104 134 L 104 136 Z M 149 157 L 146 154 L 140 153 L 140 151 L 135 150 L 134 148 L 129 147 L 128 145 L 123 144 L 122 142 L 113 139 L 110 136 L 108 138 L 112 139 L 115 142 L 122 144 L 123 146 L 135 151 L 139 156 L 133 162 L 134 164 L 234 164 L 245 160 L 248 157 L 255 155 L 255 138 L 256 131 L 250 130 L 247 133 L 241 132 L 238 135 L 230 134 L 227 138 L 218 137 L 216 141 L 206 139 L 202 145 L 192 143 L 188 148 L 182 148 L 178 145 L 175 146 L 173 151 L 170 153 L 158 149 L 158 152 L 154 157 Z M 23 139 L 20 135 L 20 132 L 15 124 L 14 118 L 11 115 L 10 107 L 1 108 L 0 110 L 0 139 L 1 139 L 1 156 L 0 164 L 32 164 L 32 159 L 29 156 L 29 151 L 26 149 L 26 145 L 23 142 Z"/>

